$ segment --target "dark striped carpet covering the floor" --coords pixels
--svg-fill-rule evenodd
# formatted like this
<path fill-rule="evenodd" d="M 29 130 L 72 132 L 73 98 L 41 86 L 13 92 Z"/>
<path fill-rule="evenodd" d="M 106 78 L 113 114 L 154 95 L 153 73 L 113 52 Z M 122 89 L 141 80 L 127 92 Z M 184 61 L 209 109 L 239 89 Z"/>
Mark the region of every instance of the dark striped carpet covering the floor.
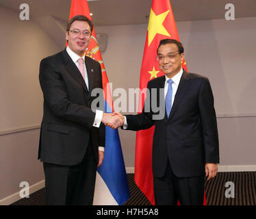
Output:
<path fill-rule="evenodd" d="M 133 180 L 133 174 L 127 174 L 131 197 L 125 205 L 151 205 Z M 229 183 L 227 187 L 225 184 Z M 226 198 L 231 185 L 234 185 L 234 198 Z M 23 198 L 12 205 L 46 205 L 44 188 Z M 205 181 L 207 205 L 256 205 L 256 172 L 218 172 L 218 175 Z"/>

